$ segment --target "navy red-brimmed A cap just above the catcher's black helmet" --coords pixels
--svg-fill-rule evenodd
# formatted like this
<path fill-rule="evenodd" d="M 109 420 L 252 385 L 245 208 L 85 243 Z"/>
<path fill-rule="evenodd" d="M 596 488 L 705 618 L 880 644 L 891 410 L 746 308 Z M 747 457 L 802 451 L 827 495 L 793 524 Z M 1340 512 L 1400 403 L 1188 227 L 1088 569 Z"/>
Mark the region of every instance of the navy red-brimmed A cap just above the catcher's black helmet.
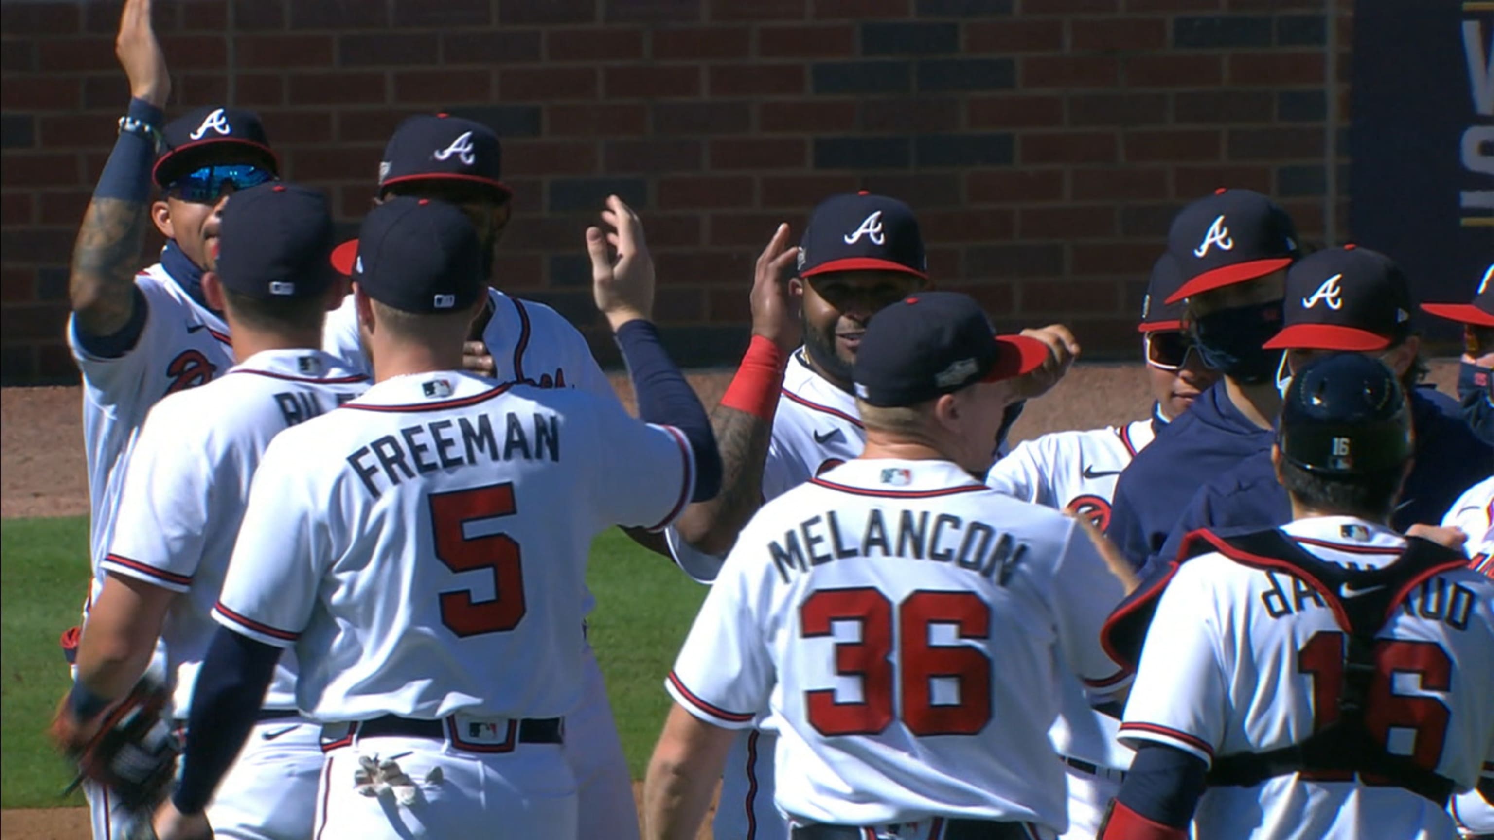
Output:
<path fill-rule="evenodd" d="M 1282 332 L 1270 350 L 1385 350 L 1410 335 L 1410 281 L 1369 248 L 1327 248 L 1286 272 Z"/>

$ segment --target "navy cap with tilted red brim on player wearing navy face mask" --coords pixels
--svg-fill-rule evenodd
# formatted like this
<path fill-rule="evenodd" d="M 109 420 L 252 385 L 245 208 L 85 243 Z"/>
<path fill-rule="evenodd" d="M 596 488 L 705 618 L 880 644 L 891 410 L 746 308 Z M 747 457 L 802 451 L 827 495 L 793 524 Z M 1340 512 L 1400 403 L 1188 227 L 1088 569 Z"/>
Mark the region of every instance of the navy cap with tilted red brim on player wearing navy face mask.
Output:
<path fill-rule="evenodd" d="M 1292 218 L 1253 190 L 1216 190 L 1179 211 L 1167 251 L 1183 275 L 1167 303 L 1265 277 L 1300 254 Z"/>

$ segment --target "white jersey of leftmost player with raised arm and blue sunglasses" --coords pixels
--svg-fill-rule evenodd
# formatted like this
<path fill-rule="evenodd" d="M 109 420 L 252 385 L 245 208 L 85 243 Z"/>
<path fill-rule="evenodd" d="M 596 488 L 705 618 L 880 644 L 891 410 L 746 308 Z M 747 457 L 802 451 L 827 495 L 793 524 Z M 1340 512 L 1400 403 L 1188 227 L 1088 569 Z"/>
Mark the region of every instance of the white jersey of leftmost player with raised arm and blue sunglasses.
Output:
<path fill-rule="evenodd" d="M 139 339 L 125 354 L 112 359 L 90 354 L 78 341 L 76 320 L 67 320 L 67 345 L 84 375 L 88 556 L 94 587 L 103 581 L 99 562 L 109 550 L 136 429 L 163 396 L 206 384 L 233 366 L 229 326 L 193 300 L 160 263 L 137 274 L 134 285 L 145 294 L 148 314 Z"/>

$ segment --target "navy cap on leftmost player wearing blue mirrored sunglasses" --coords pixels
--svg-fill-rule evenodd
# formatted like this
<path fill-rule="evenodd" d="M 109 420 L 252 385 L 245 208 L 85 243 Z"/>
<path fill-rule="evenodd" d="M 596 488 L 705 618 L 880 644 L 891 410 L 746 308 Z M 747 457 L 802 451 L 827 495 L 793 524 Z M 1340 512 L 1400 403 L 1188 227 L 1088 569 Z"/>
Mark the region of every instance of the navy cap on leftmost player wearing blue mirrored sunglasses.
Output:
<path fill-rule="evenodd" d="M 279 160 L 252 111 L 221 105 L 188 111 L 161 129 L 161 146 L 151 178 L 163 188 L 212 163 L 252 163 L 279 175 Z"/>

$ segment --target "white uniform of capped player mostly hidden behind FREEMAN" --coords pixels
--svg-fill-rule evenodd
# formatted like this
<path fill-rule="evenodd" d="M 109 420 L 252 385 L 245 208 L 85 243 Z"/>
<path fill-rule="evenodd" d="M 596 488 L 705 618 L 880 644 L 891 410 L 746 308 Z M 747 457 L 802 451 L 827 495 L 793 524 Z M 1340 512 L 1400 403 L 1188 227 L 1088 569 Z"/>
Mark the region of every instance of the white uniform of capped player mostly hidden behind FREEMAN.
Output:
<path fill-rule="evenodd" d="M 493 317 L 483 329 L 483 342 L 493 356 L 493 377 L 500 383 L 530 381 L 539 387 L 569 387 L 617 402 L 607 374 L 598 366 L 586 338 L 559 312 L 489 288 Z M 359 341 L 357 309 L 348 294 L 327 314 L 323 347 L 354 369 L 372 371 Z M 586 613 L 596 605 L 586 590 Z M 586 692 L 566 716 L 566 759 L 581 785 L 581 840 L 636 840 L 638 809 L 633 804 L 627 756 L 617 734 L 607 683 L 592 646 L 586 644 Z"/>

